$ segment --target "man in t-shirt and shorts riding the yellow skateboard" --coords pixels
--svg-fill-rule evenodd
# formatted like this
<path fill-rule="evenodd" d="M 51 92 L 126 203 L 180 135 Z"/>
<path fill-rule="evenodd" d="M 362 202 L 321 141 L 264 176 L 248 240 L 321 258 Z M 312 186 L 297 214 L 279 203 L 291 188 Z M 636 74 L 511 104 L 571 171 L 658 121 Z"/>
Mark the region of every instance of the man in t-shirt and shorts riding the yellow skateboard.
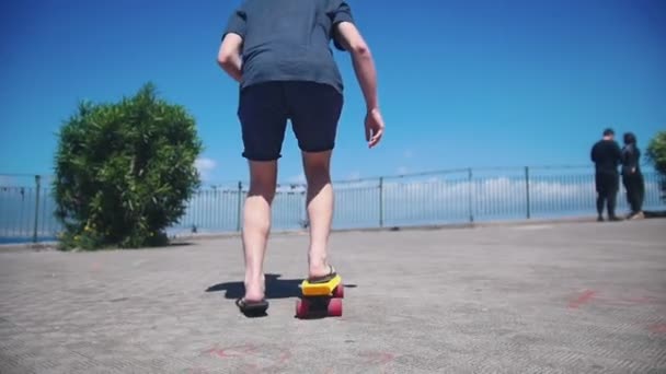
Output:
<path fill-rule="evenodd" d="M 245 0 L 230 16 L 218 63 L 240 83 L 238 115 L 243 156 L 250 165 L 250 191 L 243 213 L 245 294 L 242 312 L 265 312 L 264 254 L 271 203 L 287 119 L 290 119 L 308 183 L 310 220 L 308 279 L 335 276 L 328 261 L 333 218 L 330 176 L 343 82 L 330 48 L 352 56 L 367 108 L 365 132 L 374 148 L 383 135 L 377 78 L 370 49 L 343 0 Z"/>

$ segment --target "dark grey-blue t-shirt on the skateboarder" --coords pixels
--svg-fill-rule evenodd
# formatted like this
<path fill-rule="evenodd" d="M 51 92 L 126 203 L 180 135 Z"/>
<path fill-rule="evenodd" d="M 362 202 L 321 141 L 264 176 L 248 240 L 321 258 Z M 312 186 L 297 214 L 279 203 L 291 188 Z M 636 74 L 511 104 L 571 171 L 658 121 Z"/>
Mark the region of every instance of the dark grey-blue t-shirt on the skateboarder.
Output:
<path fill-rule="evenodd" d="M 342 92 L 330 44 L 344 50 L 333 32 L 343 21 L 353 22 L 343 0 L 244 0 L 222 35 L 243 38 L 241 89 L 267 81 L 309 81 Z"/>

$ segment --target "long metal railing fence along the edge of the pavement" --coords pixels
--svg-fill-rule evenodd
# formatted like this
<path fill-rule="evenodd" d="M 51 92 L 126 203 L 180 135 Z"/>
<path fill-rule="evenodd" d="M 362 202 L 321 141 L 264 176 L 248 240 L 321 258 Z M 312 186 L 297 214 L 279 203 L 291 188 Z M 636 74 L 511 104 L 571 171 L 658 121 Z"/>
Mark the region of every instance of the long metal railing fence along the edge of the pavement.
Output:
<path fill-rule="evenodd" d="M 644 173 L 644 208 L 666 209 L 664 179 Z M 588 167 L 467 168 L 334 183 L 334 229 L 436 225 L 495 220 L 562 218 L 595 213 L 594 173 Z M 243 183 L 207 186 L 188 201 L 170 235 L 238 232 L 248 194 Z M 618 212 L 627 211 L 623 186 Z M 0 243 L 54 241 L 49 176 L 0 176 Z M 307 226 L 306 186 L 277 188 L 273 227 Z"/>

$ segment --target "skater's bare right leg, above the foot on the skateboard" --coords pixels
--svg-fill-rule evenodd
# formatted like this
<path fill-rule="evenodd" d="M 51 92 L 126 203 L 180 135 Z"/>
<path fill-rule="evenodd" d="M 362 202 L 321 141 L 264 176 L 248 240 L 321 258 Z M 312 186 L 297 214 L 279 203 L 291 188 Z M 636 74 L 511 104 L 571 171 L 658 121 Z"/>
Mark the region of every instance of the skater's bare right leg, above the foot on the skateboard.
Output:
<path fill-rule="evenodd" d="M 303 152 L 303 170 L 308 180 L 308 217 L 310 219 L 309 277 L 323 277 L 328 262 L 329 234 L 333 220 L 333 186 L 331 185 L 332 151 Z"/>

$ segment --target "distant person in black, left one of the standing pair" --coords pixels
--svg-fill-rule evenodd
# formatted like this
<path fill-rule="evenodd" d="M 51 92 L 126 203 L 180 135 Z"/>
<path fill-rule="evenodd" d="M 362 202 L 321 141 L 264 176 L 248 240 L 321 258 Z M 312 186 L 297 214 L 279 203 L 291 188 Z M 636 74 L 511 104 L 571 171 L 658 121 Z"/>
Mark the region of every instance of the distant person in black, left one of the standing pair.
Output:
<path fill-rule="evenodd" d="M 604 206 L 608 210 L 609 221 L 620 221 L 616 215 L 616 199 L 620 187 L 618 166 L 622 160 L 622 150 L 615 140 L 612 129 L 604 130 L 604 138 L 592 148 L 590 157 L 595 163 L 595 185 L 597 189 L 597 221 L 604 221 Z"/>

